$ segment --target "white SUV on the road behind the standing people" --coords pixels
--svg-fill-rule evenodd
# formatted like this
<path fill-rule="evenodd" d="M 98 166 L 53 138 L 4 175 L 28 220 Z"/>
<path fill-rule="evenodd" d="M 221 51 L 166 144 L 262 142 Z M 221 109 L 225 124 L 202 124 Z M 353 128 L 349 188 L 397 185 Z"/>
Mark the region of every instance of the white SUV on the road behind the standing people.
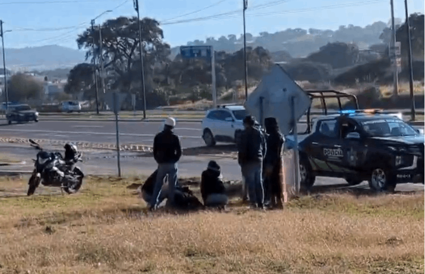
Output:
<path fill-rule="evenodd" d="M 208 147 L 216 142 L 236 143 L 243 119 L 248 115 L 243 105 L 218 105 L 207 111 L 202 120 L 202 139 Z"/>

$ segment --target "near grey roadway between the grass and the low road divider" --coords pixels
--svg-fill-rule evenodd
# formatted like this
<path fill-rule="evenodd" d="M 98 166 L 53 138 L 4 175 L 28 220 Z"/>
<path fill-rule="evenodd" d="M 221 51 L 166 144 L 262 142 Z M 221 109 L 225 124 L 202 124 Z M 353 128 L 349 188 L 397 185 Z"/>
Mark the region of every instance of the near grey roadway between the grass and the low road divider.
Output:
<path fill-rule="evenodd" d="M 19 145 L 0 144 L 2 154 L 13 155 L 17 160 L 23 160 L 26 163 L 21 166 L 0 167 L 1 170 L 27 170 L 33 169 L 31 158 L 34 158 L 37 150 Z M 206 169 L 210 160 L 214 159 L 221 166 L 225 180 L 240 180 L 240 168 L 236 160 L 225 157 L 198 157 L 182 156 L 179 162 L 180 177 L 200 177 L 202 170 Z M 114 152 L 108 151 L 84 151 L 84 162 L 79 164 L 86 174 L 118 174 L 117 159 Z M 139 153 L 124 152 L 121 158 L 121 169 L 123 176 L 131 175 L 149 175 L 156 169 L 156 163 L 152 157 L 140 157 Z M 315 186 L 338 186 L 348 187 L 342 179 L 317 177 Z M 368 189 L 367 182 L 354 187 L 356 189 Z M 401 184 L 398 185 L 398 191 L 424 190 L 422 184 Z"/>

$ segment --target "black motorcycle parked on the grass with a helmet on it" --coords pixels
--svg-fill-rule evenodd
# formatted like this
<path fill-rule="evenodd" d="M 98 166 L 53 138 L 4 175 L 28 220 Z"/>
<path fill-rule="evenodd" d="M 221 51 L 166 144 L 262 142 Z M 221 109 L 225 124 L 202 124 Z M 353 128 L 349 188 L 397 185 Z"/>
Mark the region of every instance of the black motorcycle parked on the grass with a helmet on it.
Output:
<path fill-rule="evenodd" d="M 32 147 L 39 150 L 36 159 L 33 159 L 34 170 L 28 181 L 28 196 L 34 194 L 40 184 L 46 187 L 60 187 L 61 191 L 64 190 L 68 194 L 80 190 L 84 174 L 75 164 L 83 162 L 81 152 L 74 155 L 73 159 L 65 161 L 60 152 L 47 152 L 33 140 L 28 141 Z"/>

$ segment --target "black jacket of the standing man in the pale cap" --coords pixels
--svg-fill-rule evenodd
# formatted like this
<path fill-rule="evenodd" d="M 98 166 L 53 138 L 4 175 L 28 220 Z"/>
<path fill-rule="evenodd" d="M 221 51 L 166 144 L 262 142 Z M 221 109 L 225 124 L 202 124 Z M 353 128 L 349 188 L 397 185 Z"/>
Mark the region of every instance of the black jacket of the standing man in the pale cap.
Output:
<path fill-rule="evenodd" d="M 180 140 L 171 130 L 164 129 L 153 139 L 153 158 L 158 164 L 174 164 L 180 160 Z"/>

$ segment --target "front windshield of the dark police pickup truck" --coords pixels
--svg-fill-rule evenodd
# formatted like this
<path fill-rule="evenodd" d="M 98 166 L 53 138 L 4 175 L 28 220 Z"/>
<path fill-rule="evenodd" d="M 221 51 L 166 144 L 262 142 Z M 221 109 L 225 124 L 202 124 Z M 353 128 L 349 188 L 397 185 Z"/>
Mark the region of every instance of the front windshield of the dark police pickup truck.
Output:
<path fill-rule="evenodd" d="M 396 119 L 380 119 L 361 122 L 364 131 L 374 137 L 392 137 L 392 136 L 411 136 L 417 135 L 418 132 L 404 123 L 404 121 Z"/>

